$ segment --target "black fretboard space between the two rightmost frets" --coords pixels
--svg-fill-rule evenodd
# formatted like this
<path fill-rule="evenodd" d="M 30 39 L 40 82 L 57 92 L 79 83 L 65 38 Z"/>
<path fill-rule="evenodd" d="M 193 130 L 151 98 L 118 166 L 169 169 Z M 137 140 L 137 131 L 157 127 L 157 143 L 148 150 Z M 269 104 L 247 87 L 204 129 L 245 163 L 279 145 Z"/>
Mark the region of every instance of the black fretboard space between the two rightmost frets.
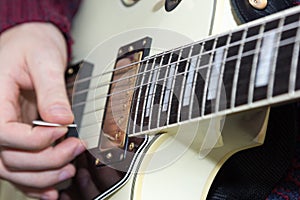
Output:
<path fill-rule="evenodd" d="M 278 43 L 278 56 L 276 58 L 277 68 L 275 72 L 274 87 L 272 88 L 273 96 L 287 93 L 289 91 L 290 70 L 295 47 L 295 38 L 297 36 L 297 27 L 299 22 L 289 24 L 289 20 L 284 20 L 280 43 Z M 294 25 L 293 25 L 294 24 Z"/>

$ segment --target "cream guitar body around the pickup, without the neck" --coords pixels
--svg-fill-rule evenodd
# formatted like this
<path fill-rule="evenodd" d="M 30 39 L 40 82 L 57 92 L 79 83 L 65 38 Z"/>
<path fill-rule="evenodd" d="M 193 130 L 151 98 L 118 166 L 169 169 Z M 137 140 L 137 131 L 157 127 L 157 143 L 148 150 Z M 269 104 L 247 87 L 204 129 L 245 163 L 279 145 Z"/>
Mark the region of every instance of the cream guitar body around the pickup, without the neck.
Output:
<path fill-rule="evenodd" d="M 134 2 L 124 1 L 128 4 Z M 74 63 L 87 60 L 93 64 L 90 76 L 98 77 L 114 67 L 117 69 L 124 59 L 124 56 L 118 57 L 118 51 L 141 38 L 152 40 L 149 55 L 142 55 L 149 57 L 237 25 L 226 0 L 182 1 L 170 12 L 164 9 L 164 2 L 141 0 L 125 6 L 120 0 L 84 1 L 73 28 Z M 123 104 L 120 99 L 119 103 L 111 103 L 114 101 L 109 98 L 96 98 L 98 94 L 118 91 L 117 86 L 99 89 L 97 85 L 103 80 L 114 82 L 112 77 L 91 81 L 89 87 L 94 89 L 87 94 L 87 99 L 93 97 L 96 100 L 87 103 L 84 108 L 84 113 L 91 115 L 77 116 L 80 118 L 78 124 L 82 126 L 79 137 L 88 144 L 88 150 L 97 148 L 101 129 L 106 126 L 105 116 L 111 112 L 109 110 Z M 76 102 L 73 104 L 76 107 Z M 91 112 L 95 107 L 97 112 Z M 230 156 L 263 144 L 268 116 L 269 108 L 263 107 L 142 131 L 141 135 L 147 136 L 141 138 L 137 150 L 124 164 L 121 161 L 97 166 L 100 161 L 89 158 L 95 157 L 93 150 L 87 151 L 84 158 L 75 161 L 78 175 L 72 182 L 77 186 L 69 190 L 75 193 L 72 199 L 206 199 L 215 176 Z M 86 128 L 85 125 L 90 123 L 96 126 Z M 126 126 L 126 129 L 129 128 Z M 127 143 L 135 138 L 128 137 Z M 136 137 L 139 139 L 139 136 Z M 114 174 L 122 175 L 115 178 Z M 101 185 L 106 189 L 102 190 Z"/>

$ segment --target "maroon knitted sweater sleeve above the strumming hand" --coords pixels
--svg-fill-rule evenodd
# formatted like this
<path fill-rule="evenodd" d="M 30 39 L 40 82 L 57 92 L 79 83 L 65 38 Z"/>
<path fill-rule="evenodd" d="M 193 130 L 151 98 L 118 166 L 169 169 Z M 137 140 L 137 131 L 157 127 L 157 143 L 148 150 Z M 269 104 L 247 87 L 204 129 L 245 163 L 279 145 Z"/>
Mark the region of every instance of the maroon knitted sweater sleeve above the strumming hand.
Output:
<path fill-rule="evenodd" d="M 24 22 L 51 22 L 65 35 L 70 55 L 71 20 L 79 4 L 80 0 L 0 0 L 0 33 Z"/>

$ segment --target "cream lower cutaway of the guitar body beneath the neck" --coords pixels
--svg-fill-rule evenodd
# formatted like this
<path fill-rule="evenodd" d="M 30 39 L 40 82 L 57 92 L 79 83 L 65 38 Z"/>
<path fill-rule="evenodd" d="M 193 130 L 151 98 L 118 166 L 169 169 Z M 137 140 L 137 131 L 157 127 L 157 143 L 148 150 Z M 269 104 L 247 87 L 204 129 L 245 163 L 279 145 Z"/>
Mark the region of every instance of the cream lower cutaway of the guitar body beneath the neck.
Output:
<path fill-rule="evenodd" d="M 144 152 L 147 156 L 140 160 L 127 184 L 108 199 L 206 199 L 216 174 L 230 156 L 262 144 L 267 116 L 266 110 L 257 110 L 226 118 L 222 130 L 224 144 L 211 149 L 205 157 L 200 155 L 202 141 L 199 138 L 185 146 L 185 142 L 174 139 L 170 130 L 170 134 L 159 136 L 149 144 L 149 149 Z M 245 128 L 257 123 L 261 130 Z M 182 125 L 181 131 L 194 132 L 198 128 L 197 134 L 205 134 L 208 124 L 207 121 L 189 123 Z M 183 134 L 178 130 L 176 133 Z M 175 157 L 179 150 L 182 152 Z"/>

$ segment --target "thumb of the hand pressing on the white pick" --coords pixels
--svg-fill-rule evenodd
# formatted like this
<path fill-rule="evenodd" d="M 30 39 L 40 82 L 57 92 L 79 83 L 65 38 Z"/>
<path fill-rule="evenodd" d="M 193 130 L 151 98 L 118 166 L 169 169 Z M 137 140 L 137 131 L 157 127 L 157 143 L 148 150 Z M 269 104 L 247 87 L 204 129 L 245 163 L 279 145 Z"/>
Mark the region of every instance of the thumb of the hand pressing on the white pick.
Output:
<path fill-rule="evenodd" d="M 60 34 L 60 33 L 59 33 Z M 64 72 L 66 44 L 44 39 L 27 61 L 38 101 L 39 114 L 43 120 L 68 124 L 74 120 L 67 97 Z M 34 49 L 34 48 L 33 48 Z"/>

